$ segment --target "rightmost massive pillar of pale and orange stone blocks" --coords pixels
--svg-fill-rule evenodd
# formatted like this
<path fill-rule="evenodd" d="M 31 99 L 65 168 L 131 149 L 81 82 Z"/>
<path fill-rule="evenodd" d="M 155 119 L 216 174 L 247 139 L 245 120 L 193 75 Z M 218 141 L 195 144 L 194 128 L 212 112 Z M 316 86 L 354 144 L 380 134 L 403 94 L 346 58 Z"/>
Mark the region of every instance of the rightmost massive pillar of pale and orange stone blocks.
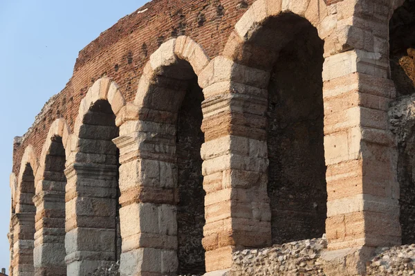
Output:
<path fill-rule="evenodd" d="M 353 273 L 364 272 L 377 246 L 400 244 L 397 150 L 387 118 L 395 89 L 388 66 L 363 50 L 324 62 L 326 235 L 329 250 L 338 250 L 334 255 L 352 256 Z"/>

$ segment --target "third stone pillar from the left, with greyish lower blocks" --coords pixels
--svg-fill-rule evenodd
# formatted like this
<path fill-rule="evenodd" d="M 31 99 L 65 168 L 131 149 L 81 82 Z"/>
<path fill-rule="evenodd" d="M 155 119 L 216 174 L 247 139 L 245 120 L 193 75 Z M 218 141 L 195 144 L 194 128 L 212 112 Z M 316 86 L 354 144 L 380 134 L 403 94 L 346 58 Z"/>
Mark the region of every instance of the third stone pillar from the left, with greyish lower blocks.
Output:
<path fill-rule="evenodd" d="M 92 162 L 65 170 L 67 275 L 86 275 L 116 261 L 118 167 Z"/>

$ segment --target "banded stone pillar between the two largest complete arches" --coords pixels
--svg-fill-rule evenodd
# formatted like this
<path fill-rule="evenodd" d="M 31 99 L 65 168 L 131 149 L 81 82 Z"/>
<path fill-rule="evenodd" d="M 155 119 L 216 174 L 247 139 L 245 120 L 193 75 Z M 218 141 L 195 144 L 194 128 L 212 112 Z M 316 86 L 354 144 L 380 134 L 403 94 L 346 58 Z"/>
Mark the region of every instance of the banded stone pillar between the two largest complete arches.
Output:
<path fill-rule="evenodd" d="M 234 250 L 271 243 L 264 116 L 268 78 L 265 71 L 218 57 L 199 81 L 205 87 L 201 156 L 208 272 L 230 268 Z"/>

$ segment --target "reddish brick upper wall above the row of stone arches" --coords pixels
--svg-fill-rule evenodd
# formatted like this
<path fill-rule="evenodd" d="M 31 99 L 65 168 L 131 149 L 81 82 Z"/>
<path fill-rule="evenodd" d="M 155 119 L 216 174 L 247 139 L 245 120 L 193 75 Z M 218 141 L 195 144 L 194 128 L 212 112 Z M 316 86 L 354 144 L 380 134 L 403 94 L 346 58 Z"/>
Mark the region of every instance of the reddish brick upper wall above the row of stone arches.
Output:
<path fill-rule="evenodd" d="M 240 2 L 245 2 L 243 5 Z M 230 32 L 254 0 L 154 0 L 127 15 L 80 51 L 73 76 L 65 88 L 44 108 L 21 145 L 13 152 L 13 172 L 27 145 L 37 155 L 50 124 L 64 118 L 73 128 L 78 107 L 89 87 L 107 75 L 119 86 L 127 101 L 135 98 L 138 80 L 151 53 L 171 37 L 192 37 L 212 58 L 222 53 Z"/>

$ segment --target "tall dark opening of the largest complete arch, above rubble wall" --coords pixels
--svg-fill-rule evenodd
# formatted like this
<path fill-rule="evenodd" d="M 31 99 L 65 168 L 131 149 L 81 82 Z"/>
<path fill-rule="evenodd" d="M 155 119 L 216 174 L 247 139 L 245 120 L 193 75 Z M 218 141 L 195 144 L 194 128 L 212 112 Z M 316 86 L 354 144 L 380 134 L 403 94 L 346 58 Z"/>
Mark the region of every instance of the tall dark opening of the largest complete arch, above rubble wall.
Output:
<path fill-rule="evenodd" d="M 324 42 L 291 12 L 270 17 L 244 46 L 248 66 L 270 71 L 268 196 L 273 243 L 322 237 L 326 165 L 322 67 Z"/>

